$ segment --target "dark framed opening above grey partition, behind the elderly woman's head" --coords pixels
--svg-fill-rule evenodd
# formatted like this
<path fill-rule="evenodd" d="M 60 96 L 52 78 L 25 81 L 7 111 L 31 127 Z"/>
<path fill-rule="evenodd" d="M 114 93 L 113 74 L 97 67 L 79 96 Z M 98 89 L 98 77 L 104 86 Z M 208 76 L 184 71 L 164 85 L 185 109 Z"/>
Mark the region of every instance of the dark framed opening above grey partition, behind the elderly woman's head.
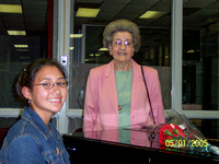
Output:
<path fill-rule="evenodd" d="M 136 21 L 137 23 L 137 21 Z M 147 66 L 170 67 L 170 27 L 140 26 L 141 46 L 134 59 Z M 85 63 L 107 63 L 113 58 L 103 50 L 103 25 L 84 25 Z"/>

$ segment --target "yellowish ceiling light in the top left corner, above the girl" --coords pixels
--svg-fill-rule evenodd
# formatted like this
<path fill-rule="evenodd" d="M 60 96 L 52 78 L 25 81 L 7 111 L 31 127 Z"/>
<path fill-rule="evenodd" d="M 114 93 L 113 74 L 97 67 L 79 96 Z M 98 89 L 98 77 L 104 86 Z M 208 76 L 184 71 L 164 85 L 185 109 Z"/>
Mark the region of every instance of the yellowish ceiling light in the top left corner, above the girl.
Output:
<path fill-rule="evenodd" d="M 22 13 L 21 4 L 0 4 L 1 13 Z"/>

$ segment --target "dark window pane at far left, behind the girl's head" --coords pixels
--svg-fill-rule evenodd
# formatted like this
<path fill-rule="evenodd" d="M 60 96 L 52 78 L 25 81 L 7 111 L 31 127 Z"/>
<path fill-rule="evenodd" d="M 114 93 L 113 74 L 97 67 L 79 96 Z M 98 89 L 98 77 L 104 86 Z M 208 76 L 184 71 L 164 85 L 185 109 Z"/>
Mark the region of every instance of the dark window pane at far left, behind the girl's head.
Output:
<path fill-rule="evenodd" d="M 21 107 L 14 94 L 19 72 L 36 58 L 47 56 L 47 0 L 3 1 L 19 13 L 0 11 L 0 107 Z"/>

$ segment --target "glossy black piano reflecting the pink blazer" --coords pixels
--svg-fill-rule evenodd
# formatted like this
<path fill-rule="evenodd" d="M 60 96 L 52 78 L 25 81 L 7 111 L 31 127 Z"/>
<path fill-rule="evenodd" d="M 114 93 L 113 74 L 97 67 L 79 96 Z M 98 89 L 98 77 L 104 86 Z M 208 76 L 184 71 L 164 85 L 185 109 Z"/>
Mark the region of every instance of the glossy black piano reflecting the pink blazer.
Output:
<path fill-rule="evenodd" d="M 161 147 L 158 131 L 116 129 L 65 134 L 62 139 L 73 164 L 219 163 L 219 156 L 201 149 Z"/>

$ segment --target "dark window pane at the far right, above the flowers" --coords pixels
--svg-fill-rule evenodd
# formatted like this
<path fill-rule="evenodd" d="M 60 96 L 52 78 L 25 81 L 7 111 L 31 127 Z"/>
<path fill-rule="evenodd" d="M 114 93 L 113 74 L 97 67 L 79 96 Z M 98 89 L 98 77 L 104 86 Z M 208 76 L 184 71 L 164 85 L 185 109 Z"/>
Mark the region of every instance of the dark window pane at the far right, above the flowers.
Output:
<path fill-rule="evenodd" d="M 219 2 L 186 1 L 183 15 L 183 108 L 218 110 Z"/>

